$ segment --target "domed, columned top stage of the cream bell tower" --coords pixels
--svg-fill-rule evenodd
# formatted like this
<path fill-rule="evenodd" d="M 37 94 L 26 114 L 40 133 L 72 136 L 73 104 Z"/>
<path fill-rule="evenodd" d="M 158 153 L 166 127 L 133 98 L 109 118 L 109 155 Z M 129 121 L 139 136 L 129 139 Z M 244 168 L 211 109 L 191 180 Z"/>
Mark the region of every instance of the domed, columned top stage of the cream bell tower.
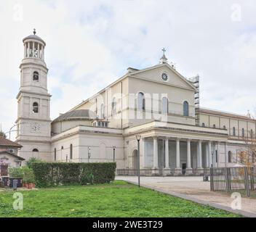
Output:
<path fill-rule="evenodd" d="M 33 35 L 23 38 L 24 58 L 38 58 L 44 60 L 44 47 L 46 43 L 39 36 L 36 36 L 36 29 Z"/>

